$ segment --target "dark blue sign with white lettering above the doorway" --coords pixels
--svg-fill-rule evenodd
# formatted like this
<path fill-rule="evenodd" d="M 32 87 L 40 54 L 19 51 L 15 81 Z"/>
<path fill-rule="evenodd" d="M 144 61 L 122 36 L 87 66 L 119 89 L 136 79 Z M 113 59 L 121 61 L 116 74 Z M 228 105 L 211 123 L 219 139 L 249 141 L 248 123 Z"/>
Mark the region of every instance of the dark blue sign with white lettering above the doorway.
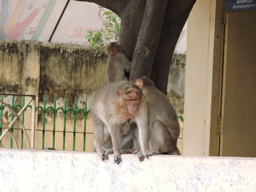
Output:
<path fill-rule="evenodd" d="M 226 0 L 225 9 L 227 12 L 256 9 L 256 0 Z"/>

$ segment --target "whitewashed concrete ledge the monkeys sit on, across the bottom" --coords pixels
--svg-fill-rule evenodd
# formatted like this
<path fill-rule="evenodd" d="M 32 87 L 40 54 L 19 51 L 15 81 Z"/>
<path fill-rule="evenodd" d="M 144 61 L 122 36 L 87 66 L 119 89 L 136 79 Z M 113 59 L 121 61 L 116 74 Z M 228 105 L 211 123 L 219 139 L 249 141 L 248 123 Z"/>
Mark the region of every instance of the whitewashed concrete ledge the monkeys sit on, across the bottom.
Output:
<path fill-rule="evenodd" d="M 0 149 L 0 191 L 256 191 L 256 158 Z"/>

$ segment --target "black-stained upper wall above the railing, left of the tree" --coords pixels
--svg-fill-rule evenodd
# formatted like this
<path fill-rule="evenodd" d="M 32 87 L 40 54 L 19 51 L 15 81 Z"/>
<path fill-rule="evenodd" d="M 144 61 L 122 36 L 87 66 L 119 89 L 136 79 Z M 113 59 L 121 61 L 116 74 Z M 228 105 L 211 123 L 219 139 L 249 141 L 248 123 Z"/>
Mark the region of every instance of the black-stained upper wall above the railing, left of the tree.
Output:
<path fill-rule="evenodd" d="M 84 98 L 105 83 L 106 55 L 78 45 L 0 41 L 0 92 L 36 94 L 39 101 Z M 83 99 L 84 100 L 84 99 Z"/>

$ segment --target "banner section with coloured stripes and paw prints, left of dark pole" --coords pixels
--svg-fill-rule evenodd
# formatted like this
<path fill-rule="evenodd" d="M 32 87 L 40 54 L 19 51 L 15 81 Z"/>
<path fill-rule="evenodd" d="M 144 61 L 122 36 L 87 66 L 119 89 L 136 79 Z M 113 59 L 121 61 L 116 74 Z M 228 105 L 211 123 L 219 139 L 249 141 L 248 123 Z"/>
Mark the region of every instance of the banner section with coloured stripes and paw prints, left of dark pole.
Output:
<path fill-rule="evenodd" d="M 66 3 L 57 0 L 0 0 L 0 39 L 49 39 Z M 45 28 L 48 32 L 42 36 Z"/>

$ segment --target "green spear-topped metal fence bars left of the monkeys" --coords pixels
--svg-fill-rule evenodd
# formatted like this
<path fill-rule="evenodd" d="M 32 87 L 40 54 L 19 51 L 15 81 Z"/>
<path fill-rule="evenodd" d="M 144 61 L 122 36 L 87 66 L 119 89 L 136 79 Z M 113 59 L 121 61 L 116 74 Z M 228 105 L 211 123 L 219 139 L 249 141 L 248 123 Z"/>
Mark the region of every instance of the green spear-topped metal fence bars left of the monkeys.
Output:
<path fill-rule="evenodd" d="M 7 98 L 5 98 L 7 99 Z M 4 96 L 1 95 L 0 96 L 0 100 L 4 101 Z M 7 99 L 8 101 L 10 101 L 10 98 Z M 25 104 L 25 97 L 23 96 L 21 99 L 21 104 L 17 104 L 16 100 L 18 100 L 15 96 L 11 96 L 11 101 L 10 104 L 7 104 L 8 106 L 6 106 L 6 102 L 4 103 L 0 103 L 0 120 L 4 119 L 4 112 L 7 112 L 7 108 L 12 108 L 12 110 L 18 110 L 23 108 L 24 104 Z M 26 111 L 29 110 L 29 108 L 31 108 L 31 106 L 29 105 L 26 108 Z M 21 117 L 20 117 L 20 121 L 22 123 L 25 123 L 25 114 L 26 111 L 22 113 Z M 31 111 L 31 110 L 30 110 Z M 14 115 L 12 112 L 10 112 L 10 120 L 13 120 Z M 35 134 L 37 137 L 37 134 L 42 134 L 42 145 L 41 147 L 37 147 L 37 148 L 41 148 L 41 149 L 45 149 L 45 140 L 46 139 L 50 139 L 50 138 L 46 138 L 46 133 L 51 133 L 52 137 L 52 145 L 48 148 L 52 148 L 55 149 L 56 148 L 56 133 L 61 133 L 62 134 L 62 150 L 66 150 L 66 136 L 67 134 L 72 134 L 72 150 L 76 150 L 76 146 L 75 146 L 75 141 L 76 141 L 76 137 L 78 134 L 82 134 L 83 135 L 83 151 L 86 151 L 86 135 L 87 134 L 93 134 L 92 132 L 86 131 L 86 120 L 87 117 L 89 115 L 89 110 L 87 110 L 87 102 L 84 102 L 84 106 L 82 109 L 78 108 L 78 104 L 77 104 L 77 100 L 75 99 L 74 105 L 73 107 L 67 107 L 67 99 L 64 99 L 64 106 L 63 107 L 56 107 L 56 99 L 53 100 L 53 106 L 47 107 L 46 105 L 46 99 L 43 99 L 42 105 L 39 105 L 36 107 L 36 117 L 37 117 L 37 126 L 35 128 Z M 56 118 L 57 115 L 61 114 L 63 116 L 63 127 L 62 130 L 57 130 L 56 129 Z M 52 118 L 53 120 L 53 124 L 51 127 L 49 127 L 49 125 L 46 127 L 46 120 L 47 120 L 47 116 L 50 118 Z M 41 117 L 41 118 L 40 118 Z M 72 118 L 72 131 L 68 131 L 67 130 L 67 118 Z M 83 131 L 77 131 L 77 121 L 79 120 L 83 120 Z M 38 125 L 42 125 L 41 128 L 39 128 Z M 1 123 L 0 121 L 0 136 L 2 134 L 2 130 L 4 129 L 3 127 L 3 123 Z M 20 137 L 20 147 L 23 149 L 23 144 L 24 144 L 24 137 L 23 137 L 23 131 L 21 128 L 18 128 L 16 126 L 12 126 L 11 131 L 18 131 L 19 132 L 19 137 Z M 26 131 L 31 131 L 31 128 L 26 128 Z M 10 137 L 10 148 L 13 147 L 12 144 L 12 137 Z M 38 146 L 38 144 L 37 144 Z M 5 147 L 5 146 L 4 146 Z"/>

